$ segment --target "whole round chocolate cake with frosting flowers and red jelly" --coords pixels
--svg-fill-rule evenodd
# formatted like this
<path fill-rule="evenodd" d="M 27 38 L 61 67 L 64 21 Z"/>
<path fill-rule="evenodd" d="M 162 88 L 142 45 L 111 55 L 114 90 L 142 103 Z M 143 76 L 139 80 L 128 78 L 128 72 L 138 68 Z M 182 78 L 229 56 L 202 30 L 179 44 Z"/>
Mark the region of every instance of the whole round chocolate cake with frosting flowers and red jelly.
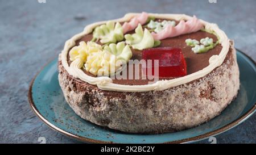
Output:
<path fill-rule="evenodd" d="M 217 24 L 184 14 L 90 24 L 66 41 L 58 68 L 77 115 L 129 133 L 196 127 L 220 115 L 240 87 L 234 42 Z"/>

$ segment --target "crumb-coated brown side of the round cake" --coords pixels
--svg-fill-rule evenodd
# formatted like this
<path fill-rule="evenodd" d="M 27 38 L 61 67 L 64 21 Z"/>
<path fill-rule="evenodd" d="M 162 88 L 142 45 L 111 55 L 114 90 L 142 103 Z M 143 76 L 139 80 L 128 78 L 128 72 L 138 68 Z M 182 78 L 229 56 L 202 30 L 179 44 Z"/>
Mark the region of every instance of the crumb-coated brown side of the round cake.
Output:
<path fill-rule="evenodd" d="M 59 58 L 59 82 L 69 106 L 92 123 L 131 133 L 174 132 L 219 115 L 240 81 L 236 49 L 230 42 L 222 65 L 204 77 L 162 91 L 105 91 L 73 78 Z"/>

